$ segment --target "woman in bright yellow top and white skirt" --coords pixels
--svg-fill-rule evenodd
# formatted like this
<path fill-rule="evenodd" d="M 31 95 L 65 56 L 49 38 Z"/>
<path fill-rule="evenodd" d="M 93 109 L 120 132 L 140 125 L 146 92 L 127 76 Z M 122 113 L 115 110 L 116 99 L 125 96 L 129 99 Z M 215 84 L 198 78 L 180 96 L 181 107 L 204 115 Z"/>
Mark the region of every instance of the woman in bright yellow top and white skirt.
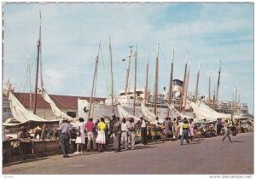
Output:
<path fill-rule="evenodd" d="M 102 152 L 102 146 L 106 143 L 106 128 L 107 124 L 105 124 L 104 118 L 101 118 L 101 122 L 97 124 L 98 136 L 96 137 L 96 143 L 98 144 L 99 152 Z"/>

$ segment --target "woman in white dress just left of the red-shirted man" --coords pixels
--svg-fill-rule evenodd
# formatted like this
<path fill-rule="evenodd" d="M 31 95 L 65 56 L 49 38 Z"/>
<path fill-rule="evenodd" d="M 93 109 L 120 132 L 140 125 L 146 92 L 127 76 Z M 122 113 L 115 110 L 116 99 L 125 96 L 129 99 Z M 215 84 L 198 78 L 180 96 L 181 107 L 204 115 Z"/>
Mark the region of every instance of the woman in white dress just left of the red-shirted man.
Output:
<path fill-rule="evenodd" d="M 85 125 L 84 125 L 84 118 L 79 118 L 79 130 L 77 131 L 77 138 L 76 138 L 76 144 L 77 144 L 77 154 L 83 153 L 83 147 L 84 147 L 84 130 L 85 130 Z M 79 147 L 81 147 L 81 152 L 79 152 Z"/>

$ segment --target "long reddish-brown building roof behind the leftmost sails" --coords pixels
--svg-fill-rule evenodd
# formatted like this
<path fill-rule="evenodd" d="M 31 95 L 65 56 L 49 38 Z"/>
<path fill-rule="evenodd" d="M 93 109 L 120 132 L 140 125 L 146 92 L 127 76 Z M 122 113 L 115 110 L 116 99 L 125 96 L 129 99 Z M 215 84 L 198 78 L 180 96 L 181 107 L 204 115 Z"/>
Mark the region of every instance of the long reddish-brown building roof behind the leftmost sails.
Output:
<path fill-rule="evenodd" d="M 30 98 L 29 93 L 14 93 L 20 103 L 29 108 Z M 55 101 L 55 105 L 61 109 L 78 109 L 78 99 L 90 101 L 90 97 L 71 96 L 71 95 L 49 95 L 50 99 Z M 93 101 L 105 101 L 106 98 L 96 97 Z M 32 94 L 32 105 L 34 101 L 34 94 Z M 44 101 L 40 94 L 37 95 L 38 108 L 50 108 L 49 104 Z"/>

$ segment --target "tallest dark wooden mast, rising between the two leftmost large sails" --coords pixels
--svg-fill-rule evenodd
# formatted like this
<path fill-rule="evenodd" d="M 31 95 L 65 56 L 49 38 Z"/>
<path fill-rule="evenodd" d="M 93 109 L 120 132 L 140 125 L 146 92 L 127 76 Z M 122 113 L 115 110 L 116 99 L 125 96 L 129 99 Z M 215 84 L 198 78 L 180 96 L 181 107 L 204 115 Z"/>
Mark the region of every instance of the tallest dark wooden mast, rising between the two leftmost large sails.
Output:
<path fill-rule="evenodd" d="M 38 95 L 38 68 L 39 68 L 39 56 L 40 56 L 40 45 L 41 45 L 41 12 L 40 12 L 40 26 L 39 26 L 39 39 L 38 39 L 38 55 L 37 55 L 37 64 L 36 64 L 36 83 L 34 90 L 34 108 L 33 113 L 37 113 L 37 95 Z"/>

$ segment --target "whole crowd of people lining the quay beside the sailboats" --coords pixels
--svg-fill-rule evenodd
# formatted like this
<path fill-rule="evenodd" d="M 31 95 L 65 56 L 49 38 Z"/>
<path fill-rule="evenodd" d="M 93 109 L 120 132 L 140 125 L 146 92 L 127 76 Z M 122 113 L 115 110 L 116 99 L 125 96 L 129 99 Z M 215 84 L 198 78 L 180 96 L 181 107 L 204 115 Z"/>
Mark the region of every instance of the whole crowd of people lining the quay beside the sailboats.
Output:
<path fill-rule="evenodd" d="M 207 122 L 204 119 L 194 122 L 193 118 L 165 118 L 162 124 L 150 124 L 150 122 L 140 116 L 140 120 L 135 122 L 134 118 L 119 118 L 113 113 L 110 118 L 100 118 L 93 122 L 89 118 L 86 122 L 84 118 L 79 118 L 79 127 L 74 128 L 72 124 L 64 118 L 61 124 L 55 125 L 54 130 L 50 130 L 47 124 L 42 128 L 39 126 L 33 129 L 34 136 L 30 130 L 22 126 L 18 132 L 18 138 L 34 138 L 45 140 L 50 138 L 59 139 L 63 158 L 68 158 L 68 147 L 73 143 L 76 154 L 91 150 L 103 152 L 107 147 L 111 147 L 115 152 L 124 150 L 134 150 L 136 139 L 139 136 L 141 143 L 148 147 L 148 140 L 166 141 L 167 139 L 180 140 L 186 143 L 193 141 L 196 137 L 224 136 L 230 142 L 230 135 L 253 131 L 253 121 L 236 121 L 231 119 L 218 118 L 216 122 Z M 158 121 L 158 118 L 156 118 Z M 244 125 L 246 124 L 246 125 Z M 113 146 L 113 147 L 112 147 Z M 84 150 L 85 147 L 85 150 Z"/>

